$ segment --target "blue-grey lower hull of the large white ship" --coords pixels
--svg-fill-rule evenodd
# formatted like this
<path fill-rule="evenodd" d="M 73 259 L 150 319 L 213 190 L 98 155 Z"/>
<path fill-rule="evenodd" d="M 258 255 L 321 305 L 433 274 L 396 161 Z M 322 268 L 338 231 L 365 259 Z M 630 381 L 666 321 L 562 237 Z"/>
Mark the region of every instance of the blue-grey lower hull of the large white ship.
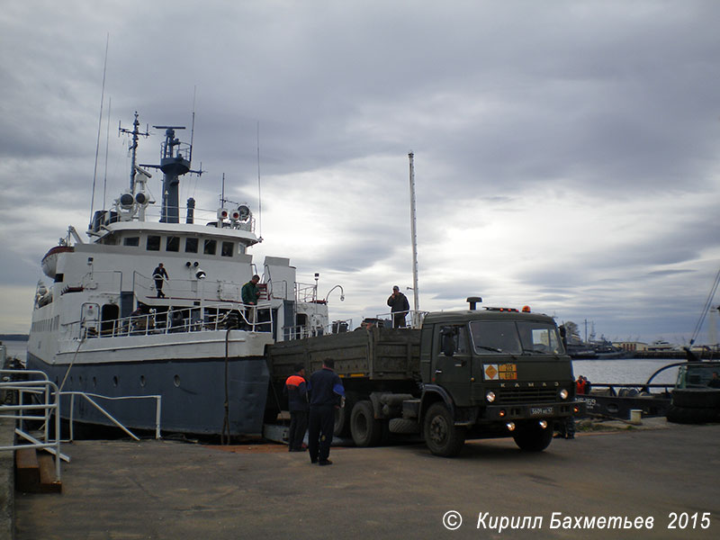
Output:
<path fill-rule="evenodd" d="M 51 365 L 28 352 L 27 367 L 62 383 L 67 392 L 117 398 L 159 395 L 163 432 L 221 435 L 225 424 L 226 360 L 218 357 L 163 358 L 142 361 Z M 66 378 L 67 374 L 67 378 Z M 235 356 L 227 360 L 228 426 L 232 436 L 260 435 L 266 409 L 269 372 L 264 356 Z M 155 430 L 156 400 L 92 398 L 125 428 Z M 70 396 L 63 395 L 60 416 L 69 419 Z M 92 403 L 76 396 L 76 422 L 112 426 Z"/>

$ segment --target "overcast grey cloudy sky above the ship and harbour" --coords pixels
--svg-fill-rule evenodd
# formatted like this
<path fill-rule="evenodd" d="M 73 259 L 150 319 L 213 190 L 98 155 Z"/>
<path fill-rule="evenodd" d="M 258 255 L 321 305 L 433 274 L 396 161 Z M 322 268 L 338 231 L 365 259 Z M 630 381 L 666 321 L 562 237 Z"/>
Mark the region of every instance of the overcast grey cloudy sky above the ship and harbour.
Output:
<path fill-rule="evenodd" d="M 89 221 L 109 36 L 95 210 L 105 169 L 106 202 L 129 183 L 118 121 L 189 127 L 194 95 L 206 173 L 181 202 L 217 208 L 224 173 L 258 265 L 343 286 L 332 319 L 393 284 L 412 302 L 412 150 L 420 309 L 480 295 L 680 343 L 720 267 L 718 21 L 711 0 L 4 3 L 0 332 L 28 331 L 41 257 Z"/>

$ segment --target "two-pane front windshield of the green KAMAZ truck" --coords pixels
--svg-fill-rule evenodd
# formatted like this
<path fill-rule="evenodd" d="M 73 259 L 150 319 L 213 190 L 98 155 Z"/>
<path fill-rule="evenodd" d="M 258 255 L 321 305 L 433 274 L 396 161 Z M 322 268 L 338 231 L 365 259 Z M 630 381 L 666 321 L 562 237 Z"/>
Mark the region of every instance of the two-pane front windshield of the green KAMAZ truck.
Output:
<path fill-rule="evenodd" d="M 470 333 L 478 355 L 564 354 L 557 329 L 542 321 L 473 320 Z"/>

